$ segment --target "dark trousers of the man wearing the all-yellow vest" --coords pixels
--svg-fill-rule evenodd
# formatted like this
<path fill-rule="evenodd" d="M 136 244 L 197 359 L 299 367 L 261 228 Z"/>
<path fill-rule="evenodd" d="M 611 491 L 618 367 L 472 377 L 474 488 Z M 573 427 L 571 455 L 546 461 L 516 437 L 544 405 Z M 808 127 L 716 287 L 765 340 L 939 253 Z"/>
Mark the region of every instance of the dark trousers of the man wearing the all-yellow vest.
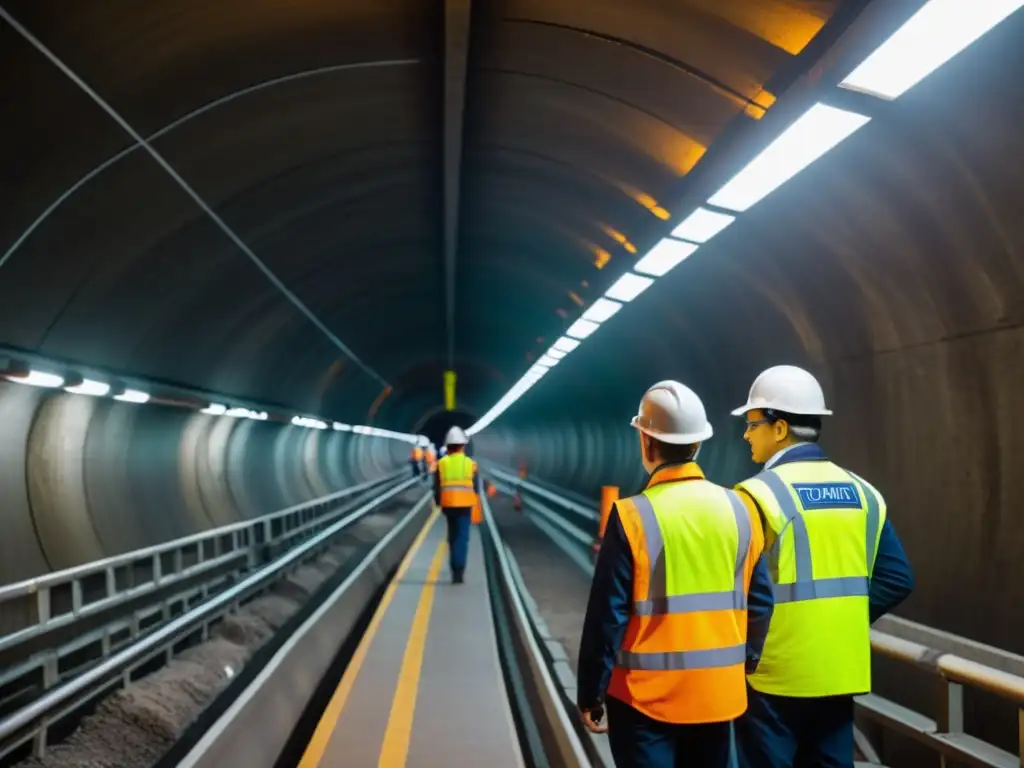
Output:
<path fill-rule="evenodd" d="M 736 721 L 741 768 L 853 768 L 853 696 L 746 693 Z"/>

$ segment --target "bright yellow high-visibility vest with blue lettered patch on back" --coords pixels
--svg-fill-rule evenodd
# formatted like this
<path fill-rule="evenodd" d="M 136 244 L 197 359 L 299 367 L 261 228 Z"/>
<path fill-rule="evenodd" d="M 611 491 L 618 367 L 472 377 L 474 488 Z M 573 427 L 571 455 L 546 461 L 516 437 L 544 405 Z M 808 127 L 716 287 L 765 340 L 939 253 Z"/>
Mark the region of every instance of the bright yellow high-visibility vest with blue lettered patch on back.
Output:
<path fill-rule="evenodd" d="M 781 696 L 866 693 L 867 594 L 886 520 L 882 495 L 828 461 L 781 464 L 737 487 L 764 512 L 775 593 L 768 639 L 750 684 Z"/>

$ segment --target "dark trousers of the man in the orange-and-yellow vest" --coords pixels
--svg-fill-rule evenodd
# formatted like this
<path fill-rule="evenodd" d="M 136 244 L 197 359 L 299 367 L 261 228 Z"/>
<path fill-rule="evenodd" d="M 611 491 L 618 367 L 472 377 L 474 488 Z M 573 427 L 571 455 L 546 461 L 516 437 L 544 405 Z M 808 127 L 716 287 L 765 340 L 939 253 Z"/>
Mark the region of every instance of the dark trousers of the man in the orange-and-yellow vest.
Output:
<path fill-rule="evenodd" d="M 608 744 L 616 768 L 729 768 L 731 723 L 677 725 L 608 697 Z"/>

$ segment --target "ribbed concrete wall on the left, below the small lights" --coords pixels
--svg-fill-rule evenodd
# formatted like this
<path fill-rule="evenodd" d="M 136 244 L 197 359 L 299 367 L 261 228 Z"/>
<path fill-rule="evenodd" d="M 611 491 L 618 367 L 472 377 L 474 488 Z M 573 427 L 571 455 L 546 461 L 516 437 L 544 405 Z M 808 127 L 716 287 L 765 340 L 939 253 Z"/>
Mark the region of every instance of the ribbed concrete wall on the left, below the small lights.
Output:
<path fill-rule="evenodd" d="M 0 584 L 379 477 L 409 445 L 0 383 Z"/>

